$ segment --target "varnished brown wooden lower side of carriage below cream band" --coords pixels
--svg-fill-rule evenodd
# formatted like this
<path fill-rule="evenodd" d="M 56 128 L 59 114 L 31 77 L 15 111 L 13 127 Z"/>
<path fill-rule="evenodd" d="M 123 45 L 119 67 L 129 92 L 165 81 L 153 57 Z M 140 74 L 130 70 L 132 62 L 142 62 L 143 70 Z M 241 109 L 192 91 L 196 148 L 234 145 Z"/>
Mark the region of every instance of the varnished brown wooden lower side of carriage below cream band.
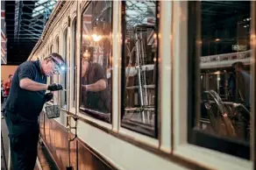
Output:
<path fill-rule="evenodd" d="M 43 114 L 40 117 L 43 117 Z M 40 119 L 41 120 L 41 119 Z M 43 119 L 42 119 L 43 120 Z M 40 121 L 40 132 L 46 133 L 46 139 L 43 138 L 46 147 L 53 156 L 54 161 L 60 169 L 66 169 L 72 166 L 73 170 L 98 169 L 109 170 L 116 169 L 101 157 L 99 153 L 94 152 L 82 140 L 75 138 L 70 142 L 70 162 L 68 153 L 68 131 L 53 119 L 45 117 L 45 130 L 43 121 Z M 69 134 L 70 138 L 74 134 Z"/>

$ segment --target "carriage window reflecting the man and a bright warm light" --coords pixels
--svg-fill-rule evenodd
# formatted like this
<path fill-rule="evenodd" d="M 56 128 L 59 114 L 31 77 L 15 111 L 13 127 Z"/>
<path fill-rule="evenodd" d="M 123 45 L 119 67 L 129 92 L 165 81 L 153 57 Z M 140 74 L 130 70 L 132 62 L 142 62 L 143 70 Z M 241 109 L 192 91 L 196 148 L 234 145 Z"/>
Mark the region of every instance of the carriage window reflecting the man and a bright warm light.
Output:
<path fill-rule="evenodd" d="M 110 122 L 112 3 L 92 1 L 82 14 L 80 110 Z"/>

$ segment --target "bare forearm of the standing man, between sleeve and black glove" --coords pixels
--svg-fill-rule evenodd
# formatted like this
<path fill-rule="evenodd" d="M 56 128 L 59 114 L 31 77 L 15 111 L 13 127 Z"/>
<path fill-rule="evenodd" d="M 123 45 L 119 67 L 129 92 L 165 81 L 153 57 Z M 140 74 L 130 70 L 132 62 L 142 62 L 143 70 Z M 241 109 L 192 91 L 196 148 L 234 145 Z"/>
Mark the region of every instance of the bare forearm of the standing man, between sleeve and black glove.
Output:
<path fill-rule="evenodd" d="M 19 81 L 19 87 L 21 89 L 27 89 L 30 91 L 42 91 L 48 89 L 47 84 L 42 84 L 36 81 L 32 81 L 29 78 L 24 78 Z"/>

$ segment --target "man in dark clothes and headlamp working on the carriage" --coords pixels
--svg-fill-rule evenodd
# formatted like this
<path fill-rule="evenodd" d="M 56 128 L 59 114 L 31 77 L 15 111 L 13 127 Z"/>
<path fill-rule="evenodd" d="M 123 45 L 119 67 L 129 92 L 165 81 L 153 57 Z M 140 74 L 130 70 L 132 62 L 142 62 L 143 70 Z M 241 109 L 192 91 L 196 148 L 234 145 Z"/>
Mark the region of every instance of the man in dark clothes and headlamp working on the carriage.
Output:
<path fill-rule="evenodd" d="M 5 107 L 13 170 L 33 170 L 39 140 L 38 117 L 44 103 L 53 98 L 46 90 L 61 90 L 60 84 L 46 85 L 46 76 L 58 73 L 64 60 L 52 53 L 44 60 L 25 61 L 16 70 Z"/>

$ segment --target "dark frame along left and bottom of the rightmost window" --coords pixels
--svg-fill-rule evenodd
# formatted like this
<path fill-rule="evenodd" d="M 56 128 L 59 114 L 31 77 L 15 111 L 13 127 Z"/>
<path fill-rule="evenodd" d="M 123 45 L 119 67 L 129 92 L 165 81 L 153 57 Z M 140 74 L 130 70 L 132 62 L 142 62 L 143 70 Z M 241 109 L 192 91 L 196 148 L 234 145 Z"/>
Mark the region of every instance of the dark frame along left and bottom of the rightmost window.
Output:
<path fill-rule="evenodd" d="M 242 159 L 250 159 L 250 143 L 231 138 L 220 138 L 217 135 L 195 129 L 196 112 L 200 111 L 198 109 L 200 98 L 197 94 L 200 91 L 200 60 L 195 60 L 201 53 L 198 52 L 198 50 L 201 50 L 200 44 L 196 44 L 196 42 L 200 42 L 201 35 L 195 34 L 195 32 L 201 31 L 200 5 L 199 2 L 188 2 L 188 143 L 231 154 Z"/>

